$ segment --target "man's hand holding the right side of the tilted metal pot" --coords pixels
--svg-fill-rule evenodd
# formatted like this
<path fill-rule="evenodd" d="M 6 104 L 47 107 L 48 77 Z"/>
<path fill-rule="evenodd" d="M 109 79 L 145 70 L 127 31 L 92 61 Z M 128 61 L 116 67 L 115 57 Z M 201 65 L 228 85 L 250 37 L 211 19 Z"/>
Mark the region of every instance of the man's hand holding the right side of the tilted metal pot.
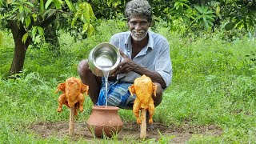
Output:
<path fill-rule="evenodd" d="M 118 64 L 117 69 L 113 72 L 111 76 L 116 76 L 118 74 L 127 74 L 130 71 L 134 71 L 134 68 L 138 66 L 138 64 L 131 60 L 126 54 L 124 54 L 122 50 L 119 50 L 119 52 L 124 59 Z"/>

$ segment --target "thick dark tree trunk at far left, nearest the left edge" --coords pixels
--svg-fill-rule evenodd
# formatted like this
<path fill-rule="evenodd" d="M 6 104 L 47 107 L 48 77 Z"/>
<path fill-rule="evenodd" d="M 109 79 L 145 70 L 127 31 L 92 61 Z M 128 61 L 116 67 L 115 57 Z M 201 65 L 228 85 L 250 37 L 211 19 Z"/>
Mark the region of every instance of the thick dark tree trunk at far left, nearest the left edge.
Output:
<path fill-rule="evenodd" d="M 27 38 L 26 43 L 22 42 L 22 37 L 26 34 L 26 30 L 22 24 L 18 26 L 17 21 L 10 21 L 10 30 L 14 38 L 14 58 L 10 66 L 9 75 L 18 74 L 24 66 L 26 50 L 30 43 L 30 38 Z"/>

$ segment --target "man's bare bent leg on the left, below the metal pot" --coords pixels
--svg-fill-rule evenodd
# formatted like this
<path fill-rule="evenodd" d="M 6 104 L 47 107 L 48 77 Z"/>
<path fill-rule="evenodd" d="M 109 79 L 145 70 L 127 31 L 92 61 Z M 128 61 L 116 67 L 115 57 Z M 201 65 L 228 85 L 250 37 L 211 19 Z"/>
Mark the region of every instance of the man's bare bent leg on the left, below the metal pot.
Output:
<path fill-rule="evenodd" d="M 98 101 L 98 94 L 102 84 L 102 78 L 95 76 L 89 69 L 88 60 L 82 60 L 78 64 L 78 74 L 82 83 L 89 86 L 88 94 L 94 105 Z"/>

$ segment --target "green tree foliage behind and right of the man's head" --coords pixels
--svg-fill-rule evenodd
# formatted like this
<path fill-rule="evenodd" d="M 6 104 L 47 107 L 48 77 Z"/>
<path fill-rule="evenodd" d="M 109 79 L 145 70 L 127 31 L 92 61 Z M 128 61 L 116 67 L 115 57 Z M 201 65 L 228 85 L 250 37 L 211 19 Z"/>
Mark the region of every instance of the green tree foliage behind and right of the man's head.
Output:
<path fill-rule="evenodd" d="M 153 8 L 154 20 L 162 18 L 171 31 L 188 34 L 186 30 L 198 31 L 222 28 L 256 31 L 255 0 L 148 0 Z M 121 17 L 128 0 L 90 1 L 97 18 Z M 121 17 L 122 18 L 122 17 Z"/>

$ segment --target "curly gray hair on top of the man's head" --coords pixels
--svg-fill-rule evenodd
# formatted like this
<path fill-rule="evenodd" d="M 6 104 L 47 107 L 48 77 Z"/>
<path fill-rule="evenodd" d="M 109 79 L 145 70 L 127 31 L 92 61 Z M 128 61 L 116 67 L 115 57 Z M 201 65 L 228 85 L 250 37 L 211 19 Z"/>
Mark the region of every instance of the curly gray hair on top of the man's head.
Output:
<path fill-rule="evenodd" d="M 132 0 L 126 3 L 125 10 L 127 21 L 134 16 L 146 18 L 148 22 L 152 22 L 151 6 L 146 0 Z"/>

